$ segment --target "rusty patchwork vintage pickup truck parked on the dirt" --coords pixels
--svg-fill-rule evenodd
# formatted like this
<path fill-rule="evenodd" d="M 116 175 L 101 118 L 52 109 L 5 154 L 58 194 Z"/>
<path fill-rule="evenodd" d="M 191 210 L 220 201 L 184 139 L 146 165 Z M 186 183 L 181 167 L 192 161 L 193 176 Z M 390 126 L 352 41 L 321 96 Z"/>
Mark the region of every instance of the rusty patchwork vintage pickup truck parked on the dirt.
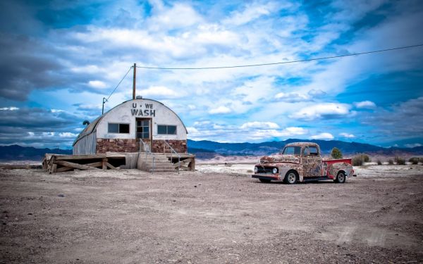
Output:
<path fill-rule="evenodd" d="M 347 177 L 356 176 L 350 158 L 324 160 L 319 145 L 311 142 L 287 144 L 280 154 L 260 158 L 254 172 L 252 177 L 260 182 L 287 184 L 317 180 L 344 183 Z"/>

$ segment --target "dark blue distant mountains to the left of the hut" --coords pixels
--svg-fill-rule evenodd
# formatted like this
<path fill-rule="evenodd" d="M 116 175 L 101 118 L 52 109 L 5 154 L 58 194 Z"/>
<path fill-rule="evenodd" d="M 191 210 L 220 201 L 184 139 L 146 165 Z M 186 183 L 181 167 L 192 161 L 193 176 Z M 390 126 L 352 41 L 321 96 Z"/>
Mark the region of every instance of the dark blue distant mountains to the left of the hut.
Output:
<path fill-rule="evenodd" d="M 36 149 L 32 146 L 0 146 L 0 161 L 42 161 L 45 153 L 72 154 L 72 149 Z"/>

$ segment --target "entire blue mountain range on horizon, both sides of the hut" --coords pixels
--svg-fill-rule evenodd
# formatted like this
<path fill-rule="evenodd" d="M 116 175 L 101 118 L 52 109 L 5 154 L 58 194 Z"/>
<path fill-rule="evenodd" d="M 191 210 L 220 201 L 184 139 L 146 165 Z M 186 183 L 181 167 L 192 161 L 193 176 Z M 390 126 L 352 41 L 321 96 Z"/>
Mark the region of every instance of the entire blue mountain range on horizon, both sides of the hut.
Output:
<path fill-rule="evenodd" d="M 357 142 L 342 142 L 338 140 L 304 140 L 287 139 L 280 142 L 262 143 L 219 143 L 207 140 L 194 141 L 188 139 L 188 152 L 194 153 L 197 158 L 213 158 L 214 156 L 264 156 L 278 153 L 283 146 L 292 142 L 315 142 L 320 145 L 323 154 L 329 154 L 333 147 L 341 150 L 345 155 L 355 153 L 380 154 L 395 156 L 403 154 L 422 155 L 423 146 L 415 148 L 383 148 L 371 144 Z M 45 153 L 71 155 L 71 149 L 36 149 L 32 146 L 0 146 L 0 161 L 41 161 Z"/>

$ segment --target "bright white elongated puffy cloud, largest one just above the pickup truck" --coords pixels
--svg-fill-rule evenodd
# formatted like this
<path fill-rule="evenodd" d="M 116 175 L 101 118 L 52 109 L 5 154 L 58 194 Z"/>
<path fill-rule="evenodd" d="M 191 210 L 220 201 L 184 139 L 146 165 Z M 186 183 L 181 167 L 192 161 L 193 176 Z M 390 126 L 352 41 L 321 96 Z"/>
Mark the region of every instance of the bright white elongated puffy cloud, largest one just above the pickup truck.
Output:
<path fill-rule="evenodd" d="M 300 120 L 315 120 L 319 118 L 332 118 L 351 115 L 350 106 L 345 103 L 317 103 L 300 109 L 290 115 L 290 118 Z"/>

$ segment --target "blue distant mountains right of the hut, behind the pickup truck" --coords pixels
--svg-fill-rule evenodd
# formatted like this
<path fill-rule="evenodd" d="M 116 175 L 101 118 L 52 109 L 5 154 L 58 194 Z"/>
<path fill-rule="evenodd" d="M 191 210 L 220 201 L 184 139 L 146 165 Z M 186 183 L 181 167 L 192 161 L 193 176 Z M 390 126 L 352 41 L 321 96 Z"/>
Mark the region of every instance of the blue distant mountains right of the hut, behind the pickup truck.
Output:
<path fill-rule="evenodd" d="M 263 156 L 271 153 L 278 153 L 283 146 L 292 142 L 314 142 L 319 144 L 321 152 L 324 154 L 331 153 L 333 147 L 336 147 L 347 155 L 355 153 L 381 154 L 381 155 L 400 155 L 410 153 L 423 154 L 423 146 L 417 146 L 412 149 L 406 148 L 383 148 L 371 144 L 363 144 L 357 142 L 342 142 L 338 140 L 308 140 L 308 139 L 287 139 L 281 142 L 262 142 L 262 143 L 219 143 L 207 140 L 194 141 L 188 139 L 188 151 L 195 153 L 195 149 L 203 149 L 214 151 L 216 154 L 225 156 Z"/>

